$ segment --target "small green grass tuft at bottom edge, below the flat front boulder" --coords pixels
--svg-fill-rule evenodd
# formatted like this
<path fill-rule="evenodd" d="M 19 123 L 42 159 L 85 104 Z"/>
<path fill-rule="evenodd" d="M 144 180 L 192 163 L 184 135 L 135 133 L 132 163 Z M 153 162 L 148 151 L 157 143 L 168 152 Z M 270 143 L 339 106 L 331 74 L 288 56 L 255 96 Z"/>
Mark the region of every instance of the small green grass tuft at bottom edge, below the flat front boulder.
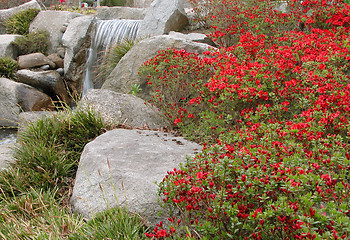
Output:
<path fill-rule="evenodd" d="M 117 207 L 98 213 L 68 239 L 145 239 L 146 230 L 140 217 Z"/>

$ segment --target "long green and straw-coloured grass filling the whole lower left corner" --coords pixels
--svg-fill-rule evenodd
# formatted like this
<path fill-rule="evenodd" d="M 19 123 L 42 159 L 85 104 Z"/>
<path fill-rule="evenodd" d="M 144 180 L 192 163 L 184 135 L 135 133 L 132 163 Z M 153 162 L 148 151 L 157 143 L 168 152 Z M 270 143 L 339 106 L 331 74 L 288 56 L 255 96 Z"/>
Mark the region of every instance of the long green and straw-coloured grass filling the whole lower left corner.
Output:
<path fill-rule="evenodd" d="M 69 198 L 84 146 L 109 129 L 91 109 L 65 110 L 20 131 L 0 172 L 0 239 L 143 239 L 141 218 L 119 208 L 87 221 Z"/>

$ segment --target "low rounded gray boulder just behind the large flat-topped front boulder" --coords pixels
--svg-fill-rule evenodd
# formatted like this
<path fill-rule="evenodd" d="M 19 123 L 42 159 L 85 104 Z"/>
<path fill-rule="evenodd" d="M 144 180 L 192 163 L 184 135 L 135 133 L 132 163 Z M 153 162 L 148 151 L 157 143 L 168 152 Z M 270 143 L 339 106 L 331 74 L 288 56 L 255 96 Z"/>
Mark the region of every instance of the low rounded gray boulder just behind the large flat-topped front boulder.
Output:
<path fill-rule="evenodd" d="M 79 105 L 94 108 L 104 121 L 110 124 L 150 129 L 160 129 L 169 125 L 156 108 L 130 94 L 90 89 Z"/>

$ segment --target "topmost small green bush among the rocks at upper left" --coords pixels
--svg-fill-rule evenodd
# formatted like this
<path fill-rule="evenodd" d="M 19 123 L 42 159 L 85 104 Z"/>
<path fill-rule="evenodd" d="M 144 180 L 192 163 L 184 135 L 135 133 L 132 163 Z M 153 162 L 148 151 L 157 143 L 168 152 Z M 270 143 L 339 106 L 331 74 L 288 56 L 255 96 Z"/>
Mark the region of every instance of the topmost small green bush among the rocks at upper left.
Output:
<path fill-rule="evenodd" d="M 5 23 L 6 32 L 8 34 L 28 34 L 29 25 L 39 12 L 39 9 L 31 8 L 14 14 Z"/>

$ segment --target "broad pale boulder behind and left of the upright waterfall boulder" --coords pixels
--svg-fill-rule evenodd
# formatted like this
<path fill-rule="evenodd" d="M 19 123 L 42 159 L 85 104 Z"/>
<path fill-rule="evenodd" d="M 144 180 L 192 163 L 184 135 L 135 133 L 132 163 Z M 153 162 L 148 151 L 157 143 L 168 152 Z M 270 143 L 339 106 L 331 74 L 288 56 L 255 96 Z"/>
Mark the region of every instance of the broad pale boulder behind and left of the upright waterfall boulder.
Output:
<path fill-rule="evenodd" d="M 30 24 L 29 32 L 36 32 L 38 30 L 48 31 L 50 34 L 48 53 L 55 53 L 62 43 L 62 29 L 64 29 L 70 20 L 79 16 L 82 15 L 68 11 L 41 11 Z"/>

